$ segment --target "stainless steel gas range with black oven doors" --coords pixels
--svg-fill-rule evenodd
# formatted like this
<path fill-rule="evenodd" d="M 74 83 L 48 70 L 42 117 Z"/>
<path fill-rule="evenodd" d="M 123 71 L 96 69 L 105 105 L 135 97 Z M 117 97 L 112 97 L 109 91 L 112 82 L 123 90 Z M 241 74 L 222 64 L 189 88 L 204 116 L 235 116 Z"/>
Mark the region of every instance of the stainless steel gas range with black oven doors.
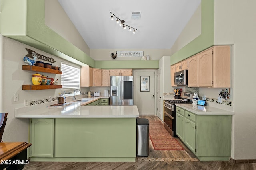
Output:
<path fill-rule="evenodd" d="M 192 93 L 181 93 L 181 99 L 164 100 L 164 127 L 176 137 L 176 103 L 192 103 Z"/>

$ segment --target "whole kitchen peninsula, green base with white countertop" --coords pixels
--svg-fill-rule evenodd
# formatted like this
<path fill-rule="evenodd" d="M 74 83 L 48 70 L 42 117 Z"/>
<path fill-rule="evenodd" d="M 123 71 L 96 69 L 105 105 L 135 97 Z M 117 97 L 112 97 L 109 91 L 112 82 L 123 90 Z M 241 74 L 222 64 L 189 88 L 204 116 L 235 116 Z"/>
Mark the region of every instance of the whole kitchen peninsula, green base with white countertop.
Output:
<path fill-rule="evenodd" d="M 16 109 L 30 120 L 31 161 L 135 161 L 137 106 Z"/>

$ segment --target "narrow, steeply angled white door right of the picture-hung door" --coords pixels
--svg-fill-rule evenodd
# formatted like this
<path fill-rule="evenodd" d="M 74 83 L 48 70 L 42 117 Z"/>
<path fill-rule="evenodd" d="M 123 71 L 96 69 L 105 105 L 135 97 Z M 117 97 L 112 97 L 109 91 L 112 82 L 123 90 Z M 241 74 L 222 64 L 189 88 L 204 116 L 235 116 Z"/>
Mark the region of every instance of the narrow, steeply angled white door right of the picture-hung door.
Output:
<path fill-rule="evenodd" d="M 163 104 L 162 104 L 162 69 L 157 70 L 157 116 L 163 120 Z"/>

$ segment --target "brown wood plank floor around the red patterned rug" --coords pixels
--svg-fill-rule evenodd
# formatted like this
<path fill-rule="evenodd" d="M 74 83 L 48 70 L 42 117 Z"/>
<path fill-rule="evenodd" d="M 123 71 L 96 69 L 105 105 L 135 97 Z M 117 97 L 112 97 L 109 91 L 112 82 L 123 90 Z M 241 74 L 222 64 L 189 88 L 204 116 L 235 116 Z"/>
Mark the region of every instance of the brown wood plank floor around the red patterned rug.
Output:
<path fill-rule="evenodd" d="M 156 116 L 140 117 L 159 120 Z M 149 156 L 138 156 L 136 162 L 30 162 L 24 170 L 256 170 L 256 164 L 201 162 L 176 139 L 185 150 L 154 150 L 150 141 Z"/>

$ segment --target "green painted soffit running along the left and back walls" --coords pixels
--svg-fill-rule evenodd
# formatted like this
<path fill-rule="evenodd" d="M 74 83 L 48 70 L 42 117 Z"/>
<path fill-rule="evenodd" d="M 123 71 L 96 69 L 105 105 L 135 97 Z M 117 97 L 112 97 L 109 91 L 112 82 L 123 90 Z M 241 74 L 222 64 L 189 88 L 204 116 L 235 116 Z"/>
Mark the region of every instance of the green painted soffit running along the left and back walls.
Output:
<path fill-rule="evenodd" d="M 158 61 L 95 61 L 45 25 L 44 0 L 2 0 L 0 32 L 79 65 L 95 68 L 158 68 Z"/>

